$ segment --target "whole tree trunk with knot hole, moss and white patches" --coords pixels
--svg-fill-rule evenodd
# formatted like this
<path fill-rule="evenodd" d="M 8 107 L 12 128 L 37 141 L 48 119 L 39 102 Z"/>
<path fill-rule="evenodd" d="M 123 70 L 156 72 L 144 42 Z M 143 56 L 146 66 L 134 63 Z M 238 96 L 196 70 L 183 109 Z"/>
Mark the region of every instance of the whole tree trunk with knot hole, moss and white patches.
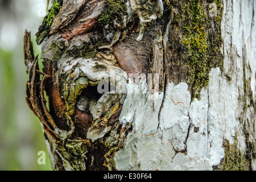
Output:
<path fill-rule="evenodd" d="M 251 170 L 255 1 L 55 0 L 25 32 L 57 170 Z M 45 41 L 44 41 L 45 40 Z"/>

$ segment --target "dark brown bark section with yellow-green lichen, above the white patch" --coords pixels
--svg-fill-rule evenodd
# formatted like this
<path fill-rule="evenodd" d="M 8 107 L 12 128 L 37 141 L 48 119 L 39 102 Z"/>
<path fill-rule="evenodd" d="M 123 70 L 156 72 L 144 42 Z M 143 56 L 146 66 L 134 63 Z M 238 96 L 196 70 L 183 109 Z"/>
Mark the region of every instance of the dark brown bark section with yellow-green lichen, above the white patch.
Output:
<path fill-rule="evenodd" d="M 211 68 L 222 68 L 221 17 L 222 1 L 212 16 L 210 3 L 202 0 L 171 1 L 169 39 L 170 78 L 190 85 L 191 101 L 200 98 L 201 89 L 208 86 Z M 167 47 L 168 49 L 168 47 Z M 178 78 L 177 78 L 178 77 Z"/>

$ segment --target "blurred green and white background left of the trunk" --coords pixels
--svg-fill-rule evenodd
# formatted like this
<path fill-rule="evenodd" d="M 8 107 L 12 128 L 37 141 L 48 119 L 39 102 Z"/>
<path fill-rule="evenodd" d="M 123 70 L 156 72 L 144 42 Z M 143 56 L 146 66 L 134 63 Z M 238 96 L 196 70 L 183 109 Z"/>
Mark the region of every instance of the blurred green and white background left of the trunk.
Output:
<path fill-rule="evenodd" d="M 35 54 L 35 33 L 46 15 L 47 0 L 0 0 L 0 170 L 48 171 L 49 155 L 39 119 L 26 104 L 26 67 L 23 35 L 31 31 Z M 38 151 L 46 152 L 46 164 L 39 165 Z"/>

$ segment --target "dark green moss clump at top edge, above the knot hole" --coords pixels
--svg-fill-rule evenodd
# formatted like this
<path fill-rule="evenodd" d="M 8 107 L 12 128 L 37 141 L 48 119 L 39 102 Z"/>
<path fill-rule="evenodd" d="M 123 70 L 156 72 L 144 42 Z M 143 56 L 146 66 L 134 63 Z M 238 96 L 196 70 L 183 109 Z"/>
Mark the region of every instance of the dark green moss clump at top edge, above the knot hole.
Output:
<path fill-rule="evenodd" d="M 123 0 L 106 0 L 104 10 L 98 19 L 99 23 L 113 23 L 114 19 L 122 22 L 123 15 L 126 15 L 127 6 Z"/>

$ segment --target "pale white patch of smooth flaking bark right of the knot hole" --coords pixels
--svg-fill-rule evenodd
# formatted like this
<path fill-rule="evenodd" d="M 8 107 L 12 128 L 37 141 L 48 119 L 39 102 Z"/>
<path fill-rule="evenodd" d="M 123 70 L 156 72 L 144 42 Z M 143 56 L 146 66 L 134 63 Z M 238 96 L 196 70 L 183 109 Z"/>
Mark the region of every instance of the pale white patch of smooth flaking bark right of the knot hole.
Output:
<path fill-rule="evenodd" d="M 201 100 L 190 104 L 187 84 L 169 82 L 161 108 L 163 93 L 157 100 L 149 100 L 149 92 L 134 92 L 147 90 L 145 82 L 127 84 L 127 90 L 133 92 L 126 96 L 120 121 L 133 123 L 133 131 L 125 148 L 115 153 L 118 170 L 211 170 L 225 156 L 223 139 L 234 143 L 237 137 L 239 149 L 246 150 L 243 114 L 251 125 L 247 127 L 249 140 L 255 141 L 255 118 L 250 117 L 253 108 L 243 113 L 241 98 L 245 64 L 255 100 L 256 5 L 255 1 L 227 0 L 223 6 L 224 71 L 210 71 L 209 86 L 202 89 Z"/>

